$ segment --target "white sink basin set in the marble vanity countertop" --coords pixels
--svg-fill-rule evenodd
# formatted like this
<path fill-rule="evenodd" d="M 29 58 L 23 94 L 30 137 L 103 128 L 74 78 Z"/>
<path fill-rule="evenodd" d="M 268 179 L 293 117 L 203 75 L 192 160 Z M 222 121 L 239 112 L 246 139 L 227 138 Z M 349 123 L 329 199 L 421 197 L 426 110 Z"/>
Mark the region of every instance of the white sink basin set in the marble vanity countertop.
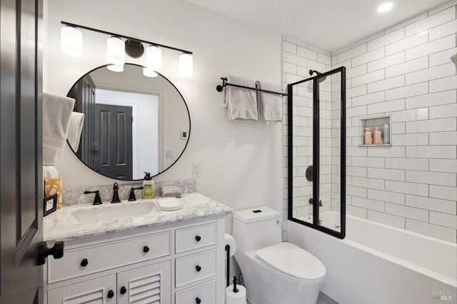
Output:
<path fill-rule="evenodd" d="M 79 223 L 89 223 L 94 221 L 103 221 L 113 218 L 124 218 L 126 216 L 146 216 L 150 213 L 160 212 L 159 208 L 153 202 L 111 204 L 109 206 L 100 206 L 87 210 L 73 211 L 71 214 Z"/>

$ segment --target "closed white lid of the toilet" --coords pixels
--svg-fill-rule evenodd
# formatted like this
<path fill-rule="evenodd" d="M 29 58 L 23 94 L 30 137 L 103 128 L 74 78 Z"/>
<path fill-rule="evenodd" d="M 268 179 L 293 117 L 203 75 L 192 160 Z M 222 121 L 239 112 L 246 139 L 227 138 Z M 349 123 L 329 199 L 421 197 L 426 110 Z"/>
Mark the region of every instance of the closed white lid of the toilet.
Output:
<path fill-rule="evenodd" d="M 256 253 L 261 262 L 293 280 L 312 283 L 326 275 L 326 268 L 320 260 L 292 243 L 271 245 Z"/>

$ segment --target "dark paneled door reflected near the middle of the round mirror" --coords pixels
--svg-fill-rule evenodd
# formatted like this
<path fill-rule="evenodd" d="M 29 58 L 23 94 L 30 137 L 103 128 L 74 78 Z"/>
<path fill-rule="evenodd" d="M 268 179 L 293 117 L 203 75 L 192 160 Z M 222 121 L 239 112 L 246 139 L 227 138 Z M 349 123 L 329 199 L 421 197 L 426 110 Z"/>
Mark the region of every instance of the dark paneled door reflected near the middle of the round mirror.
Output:
<path fill-rule="evenodd" d="M 132 179 L 132 111 L 129 106 L 95 105 L 94 169 L 106 176 Z"/>

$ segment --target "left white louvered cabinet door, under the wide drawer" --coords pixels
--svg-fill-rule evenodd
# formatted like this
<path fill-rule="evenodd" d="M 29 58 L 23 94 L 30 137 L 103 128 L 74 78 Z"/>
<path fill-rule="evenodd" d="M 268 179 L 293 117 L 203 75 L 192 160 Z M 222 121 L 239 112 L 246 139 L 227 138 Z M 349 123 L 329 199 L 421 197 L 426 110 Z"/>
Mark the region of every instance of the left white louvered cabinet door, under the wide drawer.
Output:
<path fill-rule="evenodd" d="M 117 304 L 116 275 L 48 291 L 48 304 Z"/>

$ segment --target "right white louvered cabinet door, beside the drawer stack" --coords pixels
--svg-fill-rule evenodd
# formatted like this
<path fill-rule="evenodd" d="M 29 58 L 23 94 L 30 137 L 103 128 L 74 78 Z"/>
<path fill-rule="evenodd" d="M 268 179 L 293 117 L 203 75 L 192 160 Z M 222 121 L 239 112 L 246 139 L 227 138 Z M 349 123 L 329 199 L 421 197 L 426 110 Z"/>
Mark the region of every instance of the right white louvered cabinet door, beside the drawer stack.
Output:
<path fill-rule="evenodd" d="M 117 304 L 171 303 L 171 261 L 118 273 Z"/>

